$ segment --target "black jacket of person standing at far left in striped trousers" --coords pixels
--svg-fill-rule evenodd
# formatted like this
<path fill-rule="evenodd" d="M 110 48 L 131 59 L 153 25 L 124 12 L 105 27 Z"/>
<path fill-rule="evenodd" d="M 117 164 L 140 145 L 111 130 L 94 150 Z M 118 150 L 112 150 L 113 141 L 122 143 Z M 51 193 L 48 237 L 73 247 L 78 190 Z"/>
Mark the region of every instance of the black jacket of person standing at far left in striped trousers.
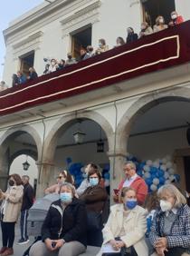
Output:
<path fill-rule="evenodd" d="M 33 205 L 33 187 L 27 183 L 24 185 L 24 197 L 21 211 L 29 210 Z"/>

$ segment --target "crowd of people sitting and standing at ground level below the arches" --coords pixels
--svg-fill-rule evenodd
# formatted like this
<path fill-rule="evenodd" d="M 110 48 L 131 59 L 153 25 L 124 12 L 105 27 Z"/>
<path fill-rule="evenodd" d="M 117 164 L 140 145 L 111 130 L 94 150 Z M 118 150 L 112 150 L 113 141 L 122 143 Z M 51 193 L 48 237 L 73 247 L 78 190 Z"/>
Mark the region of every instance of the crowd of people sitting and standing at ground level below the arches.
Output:
<path fill-rule="evenodd" d="M 40 239 L 30 256 L 78 256 L 87 245 L 98 246 L 97 256 L 186 256 L 190 255 L 190 208 L 184 192 L 175 184 L 165 184 L 157 192 L 147 192 L 134 162 L 124 164 L 125 179 L 111 196 L 110 208 L 100 167 L 86 165 L 84 180 L 75 188 L 66 170 L 44 193 L 56 193 L 43 222 Z M 13 255 L 14 226 L 21 212 L 20 244 L 28 242 L 27 214 L 33 205 L 29 177 L 9 177 L 8 189 L 0 192 L 3 247 L 0 255 Z"/>

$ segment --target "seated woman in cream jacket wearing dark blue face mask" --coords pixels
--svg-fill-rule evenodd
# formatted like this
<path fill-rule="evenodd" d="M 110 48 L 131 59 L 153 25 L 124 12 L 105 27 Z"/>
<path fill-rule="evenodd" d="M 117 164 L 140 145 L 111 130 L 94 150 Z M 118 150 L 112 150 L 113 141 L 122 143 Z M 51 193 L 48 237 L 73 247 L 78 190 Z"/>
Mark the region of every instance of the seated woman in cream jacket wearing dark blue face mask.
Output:
<path fill-rule="evenodd" d="M 123 188 L 121 198 L 123 203 L 110 208 L 109 220 L 102 230 L 104 241 L 97 256 L 147 256 L 147 211 L 138 206 L 133 188 Z"/>

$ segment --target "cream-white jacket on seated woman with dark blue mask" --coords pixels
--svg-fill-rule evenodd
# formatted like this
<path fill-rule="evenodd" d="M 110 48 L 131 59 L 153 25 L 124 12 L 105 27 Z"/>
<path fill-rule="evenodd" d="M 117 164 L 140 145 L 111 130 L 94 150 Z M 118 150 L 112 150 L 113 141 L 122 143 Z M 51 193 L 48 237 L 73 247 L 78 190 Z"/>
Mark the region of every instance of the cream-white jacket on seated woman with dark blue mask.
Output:
<path fill-rule="evenodd" d="M 111 206 L 109 220 L 106 223 L 103 232 L 103 244 L 119 237 L 123 225 L 123 204 Z M 147 211 L 140 206 L 136 206 L 128 213 L 125 221 L 124 230 L 126 234 L 120 239 L 125 242 L 127 247 L 134 246 L 138 256 L 148 256 L 145 233 L 147 231 Z M 97 256 L 100 256 L 100 251 Z"/>

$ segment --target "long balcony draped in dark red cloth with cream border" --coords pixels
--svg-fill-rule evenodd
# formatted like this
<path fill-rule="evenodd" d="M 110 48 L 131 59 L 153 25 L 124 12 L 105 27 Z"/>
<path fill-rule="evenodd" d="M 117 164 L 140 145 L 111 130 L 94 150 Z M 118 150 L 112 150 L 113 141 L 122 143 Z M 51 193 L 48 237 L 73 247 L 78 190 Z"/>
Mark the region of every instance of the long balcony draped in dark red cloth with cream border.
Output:
<path fill-rule="evenodd" d="M 126 91 L 134 79 L 138 79 L 139 86 L 144 86 L 139 76 L 145 78 L 146 84 L 150 74 L 190 61 L 189 32 L 190 21 L 187 21 L 62 71 L 43 75 L 33 82 L 9 88 L 0 93 L 1 123 L 10 121 L 11 116 L 16 119 L 16 113 L 24 117 L 24 114 L 34 114 L 43 108 L 48 111 L 58 108 L 58 105 L 73 104 L 75 99 L 82 102 L 94 95 L 101 98 L 113 94 L 114 90 L 115 93 L 121 90 L 119 84 Z M 157 77 L 161 79 L 160 73 Z M 152 79 L 154 81 L 154 77 Z"/>

